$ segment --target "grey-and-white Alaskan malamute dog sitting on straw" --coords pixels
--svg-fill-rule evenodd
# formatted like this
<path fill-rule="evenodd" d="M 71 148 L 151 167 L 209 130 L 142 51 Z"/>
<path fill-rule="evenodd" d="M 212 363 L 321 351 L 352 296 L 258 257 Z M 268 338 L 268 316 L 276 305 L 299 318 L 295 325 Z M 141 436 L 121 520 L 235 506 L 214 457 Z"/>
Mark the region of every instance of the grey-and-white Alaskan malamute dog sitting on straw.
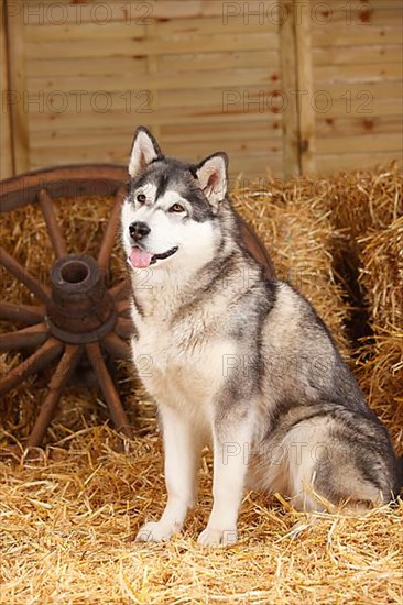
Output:
<path fill-rule="evenodd" d="M 167 504 L 138 540 L 168 540 L 196 498 L 205 444 L 214 506 L 203 544 L 232 543 L 246 488 L 325 502 L 397 494 L 386 429 L 368 408 L 313 307 L 268 279 L 242 243 L 227 194 L 228 160 L 165 157 L 139 128 L 122 207 L 134 363 L 162 421 Z"/>

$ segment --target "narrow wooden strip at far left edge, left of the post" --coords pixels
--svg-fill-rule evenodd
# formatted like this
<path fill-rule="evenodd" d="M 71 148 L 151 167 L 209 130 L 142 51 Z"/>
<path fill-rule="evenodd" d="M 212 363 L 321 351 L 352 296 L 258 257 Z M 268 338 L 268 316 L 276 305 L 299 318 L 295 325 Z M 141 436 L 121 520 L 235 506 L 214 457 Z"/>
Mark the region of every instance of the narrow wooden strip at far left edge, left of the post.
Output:
<path fill-rule="evenodd" d="M 1 95 L 1 113 L 0 113 L 0 179 L 8 178 L 13 175 L 12 161 L 12 141 L 11 141 L 11 117 L 10 106 L 8 102 L 8 52 L 6 42 L 6 4 L 1 0 L 0 13 L 0 95 Z"/>

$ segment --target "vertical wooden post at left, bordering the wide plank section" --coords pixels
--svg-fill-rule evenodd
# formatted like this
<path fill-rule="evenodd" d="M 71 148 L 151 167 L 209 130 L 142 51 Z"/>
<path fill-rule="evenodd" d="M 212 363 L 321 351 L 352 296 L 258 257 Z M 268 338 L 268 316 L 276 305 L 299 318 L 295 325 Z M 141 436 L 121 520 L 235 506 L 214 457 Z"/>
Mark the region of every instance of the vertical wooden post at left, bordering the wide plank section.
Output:
<path fill-rule="evenodd" d="M 19 10 L 18 10 L 19 9 Z M 6 0 L 6 32 L 9 68 L 9 91 L 11 116 L 11 136 L 13 148 L 13 172 L 24 173 L 29 162 L 29 116 L 25 51 L 24 51 L 24 2 L 18 4 Z"/>

